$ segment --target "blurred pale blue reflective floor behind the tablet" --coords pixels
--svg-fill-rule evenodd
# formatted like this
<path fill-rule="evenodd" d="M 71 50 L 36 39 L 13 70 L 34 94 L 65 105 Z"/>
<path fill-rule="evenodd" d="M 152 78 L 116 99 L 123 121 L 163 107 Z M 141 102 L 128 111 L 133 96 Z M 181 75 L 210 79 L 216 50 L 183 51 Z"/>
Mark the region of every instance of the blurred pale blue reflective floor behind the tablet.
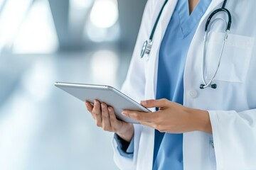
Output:
<path fill-rule="evenodd" d="M 122 57 L 120 57 L 122 56 Z M 117 169 L 112 133 L 55 81 L 120 89 L 130 54 L 114 50 L 0 57 L 0 169 Z"/>

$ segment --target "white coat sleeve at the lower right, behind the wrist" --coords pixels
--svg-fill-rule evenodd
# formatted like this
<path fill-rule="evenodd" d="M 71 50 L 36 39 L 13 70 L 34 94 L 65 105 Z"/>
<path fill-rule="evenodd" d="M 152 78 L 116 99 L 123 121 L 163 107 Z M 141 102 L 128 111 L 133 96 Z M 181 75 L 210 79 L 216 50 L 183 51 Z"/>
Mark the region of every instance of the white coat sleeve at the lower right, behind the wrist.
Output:
<path fill-rule="evenodd" d="M 255 169 L 256 109 L 209 114 L 217 169 Z"/>

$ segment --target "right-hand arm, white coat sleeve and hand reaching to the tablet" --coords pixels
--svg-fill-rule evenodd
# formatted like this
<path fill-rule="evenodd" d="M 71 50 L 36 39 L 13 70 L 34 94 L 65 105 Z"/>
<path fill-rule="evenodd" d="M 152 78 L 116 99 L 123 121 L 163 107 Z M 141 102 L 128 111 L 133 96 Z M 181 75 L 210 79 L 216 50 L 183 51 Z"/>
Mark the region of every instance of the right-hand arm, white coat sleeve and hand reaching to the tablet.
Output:
<path fill-rule="evenodd" d="M 157 107 L 152 113 L 124 111 L 124 115 L 161 132 L 202 131 L 213 133 L 217 169 L 255 169 L 256 109 L 201 111 L 161 100 L 142 101 L 145 107 Z"/>

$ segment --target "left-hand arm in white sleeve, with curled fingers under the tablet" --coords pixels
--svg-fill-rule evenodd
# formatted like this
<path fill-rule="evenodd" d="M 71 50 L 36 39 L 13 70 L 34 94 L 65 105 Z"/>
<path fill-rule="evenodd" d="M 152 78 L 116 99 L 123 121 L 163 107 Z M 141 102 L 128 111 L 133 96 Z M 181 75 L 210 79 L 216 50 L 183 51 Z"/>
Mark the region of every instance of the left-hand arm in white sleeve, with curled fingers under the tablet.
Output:
<path fill-rule="evenodd" d="M 139 30 L 139 35 L 137 38 L 137 43 L 134 47 L 134 54 L 132 55 L 132 60 L 129 66 L 126 80 L 122 86 L 122 92 L 127 94 L 135 101 L 140 101 L 144 98 L 144 62 L 140 59 L 140 50 L 144 40 L 149 38 L 149 21 L 151 21 L 152 11 L 155 8 L 156 1 L 147 1 L 144 15 L 142 18 L 142 25 Z M 134 86 L 134 84 L 136 84 Z M 137 164 L 137 150 L 139 147 L 139 138 L 141 132 L 141 125 L 132 125 L 130 123 L 124 123 L 115 118 L 114 112 L 111 107 L 106 106 L 104 103 L 101 105 L 100 101 L 96 105 L 92 106 L 90 103 L 86 103 L 87 110 L 92 113 L 92 117 L 95 119 L 97 126 L 101 127 L 103 130 L 110 132 L 116 132 L 119 137 L 123 140 L 130 142 L 134 140 L 134 154 L 132 157 L 124 157 L 121 155 L 117 147 L 119 144 L 117 140 L 113 139 L 113 149 L 114 149 L 114 162 L 117 164 L 119 169 L 135 169 Z M 110 109 L 108 111 L 108 109 Z M 119 130 L 120 127 L 122 130 Z M 117 131 L 119 130 L 119 131 Z"/>

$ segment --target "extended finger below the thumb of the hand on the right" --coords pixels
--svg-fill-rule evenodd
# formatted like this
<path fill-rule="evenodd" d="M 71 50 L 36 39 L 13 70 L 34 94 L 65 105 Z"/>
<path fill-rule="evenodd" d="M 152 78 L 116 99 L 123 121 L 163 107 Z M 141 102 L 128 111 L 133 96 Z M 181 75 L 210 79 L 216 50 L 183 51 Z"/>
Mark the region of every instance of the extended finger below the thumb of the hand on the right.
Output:
<path fill-rule="evenodd" d="M 137 122 L 152 122 L 156 118 L 154 112 L 122 111 L 122 114 Z"/>

